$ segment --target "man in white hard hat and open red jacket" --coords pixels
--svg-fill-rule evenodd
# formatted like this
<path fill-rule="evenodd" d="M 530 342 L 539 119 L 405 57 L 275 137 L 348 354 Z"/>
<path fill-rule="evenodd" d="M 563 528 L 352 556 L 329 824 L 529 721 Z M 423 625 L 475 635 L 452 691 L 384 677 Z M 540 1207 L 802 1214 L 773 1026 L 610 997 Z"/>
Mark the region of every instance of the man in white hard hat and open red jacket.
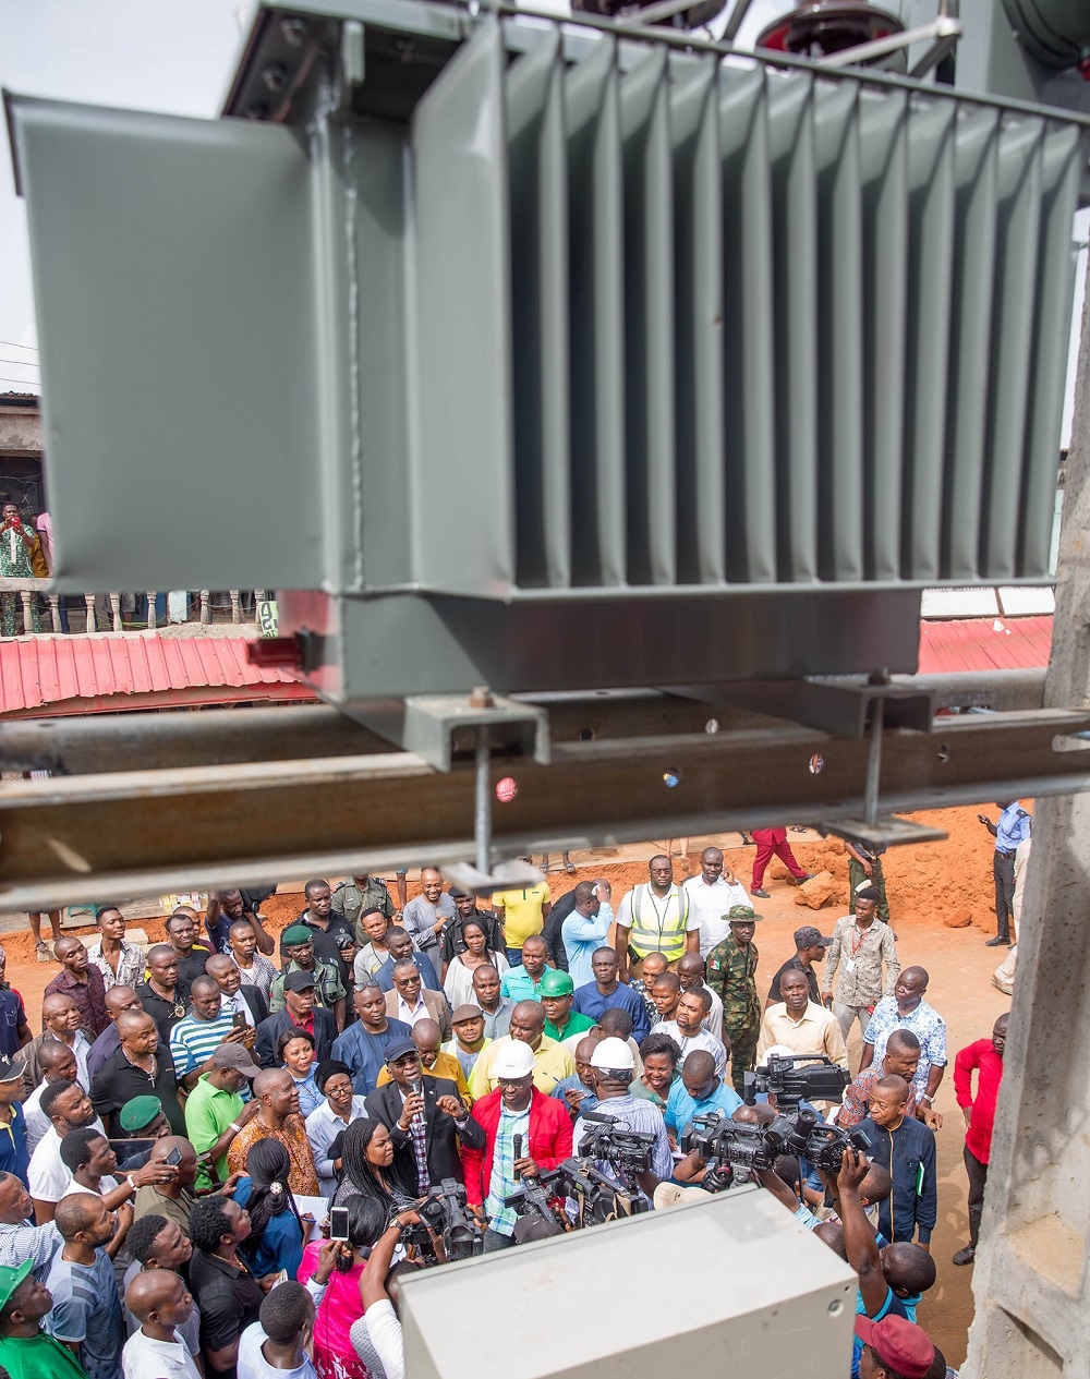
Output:
<path fill-rule="evenodd" d="M 620 1044 L 620 1040 L 612 1043 Z M 628 1054 L 626 1045 L 620 1047 Z M 485 1252 L 515 1242 L 518 1214 L 504 1207 L 504 1198 L 515 1191 L 520 1179 L 537 1178 L 572 1156 L 572 1118 L 564 1102 L 546 1096 L 533 1085 L 531 1045 L 507 1038 L 491 1045 L 488 1052 L 492 1049 L 496 1051 L 492 1060 L 496 1089 L 473 1107 L 485 1147 L 474 1149 L 463 1139 L 460 1149 L 466 1200 L 486 1227 Z"/>

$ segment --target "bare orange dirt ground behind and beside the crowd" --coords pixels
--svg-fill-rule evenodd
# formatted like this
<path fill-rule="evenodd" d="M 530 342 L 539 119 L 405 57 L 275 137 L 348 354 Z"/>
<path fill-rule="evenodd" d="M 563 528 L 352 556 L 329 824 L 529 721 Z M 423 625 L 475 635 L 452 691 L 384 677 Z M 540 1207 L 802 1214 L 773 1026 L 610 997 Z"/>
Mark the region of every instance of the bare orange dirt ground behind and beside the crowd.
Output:
<path fill-rule="evenodd" d="M 1025 801 L 1024 801 L 1025 803 Z M 943 1349 L 947 1361 L 959 1365 L 965 1358 L 966 1332 L 973 1316 L 971 1267 L 958 1269 L 951 1265 L 951 1255 L 967 1240 L 967 1216 L 965 1209 L 965 1169 L 962 1165 L 963 1127 L 962 1116 L 954 1100 L 952 1063 L 954 1054 L 991 1033 L 996 1016 L 1010 1008 L 1010 1000 L 991 985 L 991 974 L 1002 961 L 1005 950 L 987 949 L 984 938 L 995 931 L 994 889 L 992 889 L 992 840 L 977 822 L 977 812 L 996 815 L 994 805 L 987 804 L 960 809 L 936 809 L 914 815 L 923 823 L 933 823 L 949 834 L 943 843 L 925 843 L 901 847 L 885 858 L 886 887 L 889 892 L 893 927 L 898 935 L 897 950 L 901 964 L 908 967 L 922 964 L 932 975 L 927 998 L 943 1012 L 948 1026 L 949 1067 L 937 1096 L 937 1109 L 945 1117 L 945 1125 L 938 1135 L 938 1225 L 933 1237 L 933 1251 L 938 1266 L 938 1281 L 927 1294 L 919 1310 L 919 1321 Z M 757 945 L 761 950 L 758 987 L 761 997 L 779 965 L 791 953 L 791 934 L 801 924 L 817 924 L 830 934 L 834 921 L 847 913 L 847 859 L 841 843 L 835 838 L 820 838 L 817 834 L 788 833 L 788 843 L 798 860 L 808 872 L 831 872 L 835 884 L 834 899 L 824 907 L 812 910 L 796 903 L 798 894 L 785 884 L 787 869 L 773 859 L 765 888 L 770 899 L 757 903 L 763 916 L 758 927 Z M 689 859 L 692 872 L 697 872 L 700 848 L 710 841 L 723 848 L 726 865 L 739 880 L 750 888 L 752 873 L 752 847 L 737 847 L 737 834 L 723 838 L 690 838 Z M 555 870 L 548 877 L 554 899 L 564 895 L 582 877 L 608 877 L 613 885 L 613 905 L 634 884 L 648 876 L 646 858 L 656 848 L 627 848 L 637 860 L 610 860 L 616 849 L 601 848 L 573 854 L 579 874 L 569 876 Z M 558 859 L 554 855 L 554 866 Z M 682 878 L 681 860 L 675 859 L 674 872 Z M 390 878 L 393 881 L 393 878 Z M 390 885 L 393 894 L 393 884 Z M 409 883 L 409 896 L 419 894 L 419 884 Z M 263 912 L 270 928 L 281 932 L 303 909 L 299 891 L 284 891 L 271 896 Z M 150 942 L 164 938 L 163 920 L 134 920 L 147 934 Z M 83 934 L 90 942 L 92 928 L 66 929 Z M 7 975 L 26 1004 L 30 1027 L 41 1029 L 41 993 L 56 975 L 52 963 L 37 963 L 28 931 L 3 935 L 7 953 Z M 849 1040 L 852 1066 L 858 1063 L 860 1040 L 857 1030 Z"/>

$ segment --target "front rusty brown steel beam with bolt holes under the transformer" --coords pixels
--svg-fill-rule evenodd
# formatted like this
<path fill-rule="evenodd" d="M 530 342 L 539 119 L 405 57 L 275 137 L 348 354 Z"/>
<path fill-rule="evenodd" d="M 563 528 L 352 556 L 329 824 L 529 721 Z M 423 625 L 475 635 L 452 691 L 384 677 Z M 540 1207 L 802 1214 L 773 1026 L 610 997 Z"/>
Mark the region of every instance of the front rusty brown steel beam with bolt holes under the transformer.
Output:
<path fill-rule="evenodd" d="M 883 735 L 883 812 L 1090 789 L 1090 712 L 936 720 Z M 1060 741 L 1062 739 L 1062 741 Z M 1069 746 L 1071 750 L 1057 750 Z M 492 763 L 497 855 L 858 818 L 867 742 L 802 727 L 555 742 Z M 667 782 L 675 779 L 677 785 Z M 99 772 L 0 785 L 0 903 L 251 884 L 474 855 L 471 765 L 412 753 Z"/>

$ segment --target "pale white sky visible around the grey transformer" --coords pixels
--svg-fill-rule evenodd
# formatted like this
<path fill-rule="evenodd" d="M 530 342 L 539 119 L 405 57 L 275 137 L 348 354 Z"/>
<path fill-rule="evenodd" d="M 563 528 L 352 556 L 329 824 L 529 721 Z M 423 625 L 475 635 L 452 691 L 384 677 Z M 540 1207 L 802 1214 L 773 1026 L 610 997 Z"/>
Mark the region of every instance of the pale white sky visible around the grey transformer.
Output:
<path fill-rule="evenodd" d="M 547 4 L 537 0 L 535 7 Z M 215 119 L 252 7 L 252 0 L 0 0 L 0 85 L 21 95 Z M 750 47 L 770 18 L 790 8 L 790 0 L 754 0 L 739 44 Z M 40 392 L 26 214 L 15 196 L 7 138 L 0 143 L 0 393 L 12 386 Z M 1076 218 L 1076 237 L 1084 241 L 1087 233 L 1090 211 Z M 1064 445 L 1071 436 L 1084 274 L 1083 251 Z"/>

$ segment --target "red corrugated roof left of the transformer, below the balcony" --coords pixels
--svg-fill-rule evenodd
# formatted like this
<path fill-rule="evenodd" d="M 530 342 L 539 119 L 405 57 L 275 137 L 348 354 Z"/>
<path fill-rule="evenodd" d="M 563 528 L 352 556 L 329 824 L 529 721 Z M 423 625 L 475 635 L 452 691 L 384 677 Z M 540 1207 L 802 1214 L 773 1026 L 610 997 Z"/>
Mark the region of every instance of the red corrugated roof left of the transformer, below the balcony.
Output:
<path fill-rule="evenodd" d="M 251 665 L 245 637 L 102 633 L 0 641 L 0 714 L 7 716 L 314 698 L 291 672 Z"/>

